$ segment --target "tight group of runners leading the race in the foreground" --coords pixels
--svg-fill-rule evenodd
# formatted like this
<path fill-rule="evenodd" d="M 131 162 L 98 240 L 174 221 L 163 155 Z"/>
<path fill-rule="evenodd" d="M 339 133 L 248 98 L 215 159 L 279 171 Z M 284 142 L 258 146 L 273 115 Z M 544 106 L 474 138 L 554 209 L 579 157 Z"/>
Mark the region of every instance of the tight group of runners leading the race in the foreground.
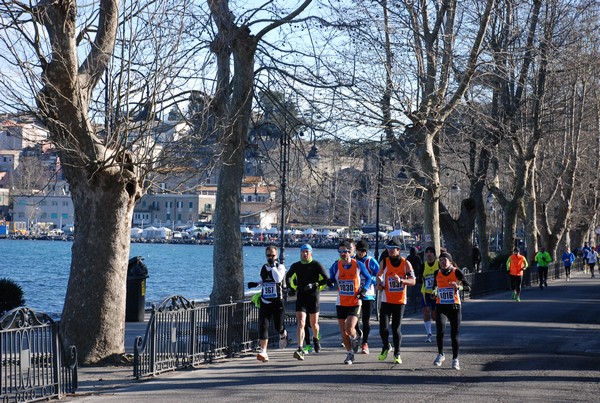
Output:
<path fill-rule="evenodd" d="M 326 287 L 337 290 L 336 317 L 338 320 L 342 345 L 346 349 L 344 363 L 355 362 L 355 354 L 361 347 L 362 354 L 369 354 L 368 337 L 370 317 L 376 295 L 381 302 L 379 310 L 379 335 L 382 350 L 379 361 L 385 361 L 393 348 L 394 364 L 401 364 L 400 346 L 402 342 L 401 323 L 406 307 L 408 287 L 417 283 L 421 268 L 413 268 L 408 259 L 400 255 L 400 245 L 395 240 L 386 244 L 379 261 L 368 256 L 368 243 L 344 240 L 338 245 L 340 258 L 327 271 L 321 263 L 313 259 L 312 247 L 304 244 L 300 248 L 300 261 L 292 264 L 285 272 L 283 265 L 277 263 L 277 248 L 266 249 L 267 263 L 261 268 L 260 282 L 250 282 L 248 287 L 261 286 L 259 323 L 260 350 L 256 356 L 259 361 L 269 360 L 267 354 L 268 327 L 273 320 L 280 336 L 280 348 L 287 345 L 287 332 L 283 324 L 284 292 L 296 296 L 296 320 L 298 346 L 293 355 L 298 360 L 305 359 L 305 332 L 310 323 L 313 332 L 313 347 L 316 353 L 321 351 L 319 332 L 320 291 Z M 441 366 L 445 361 L 444 333 L 450 322 L 452 344 L 452 368 L 459 370 L 459 328 L 462 320 L 460 291 L 468 290 L 469 284 L 463 273 L 453 263 L 447 252 L 436 257 L 433 247 L 425 251 L 426 260 L 422 271 L 422 305 L 426 341 L 432 342 L 431 320 L 436 322 L 436 341 L 438 354 L 433 364 Z M 415 271 L 418 270 L 418 272 Z M 378 293 L 376 293 L 376 290 Z M 359 318 L 362 314 L 362 329 Z M 392 334 L 392 343 L 389 335 Z M 361 345 L 362 341 L 362 345 Z"/>

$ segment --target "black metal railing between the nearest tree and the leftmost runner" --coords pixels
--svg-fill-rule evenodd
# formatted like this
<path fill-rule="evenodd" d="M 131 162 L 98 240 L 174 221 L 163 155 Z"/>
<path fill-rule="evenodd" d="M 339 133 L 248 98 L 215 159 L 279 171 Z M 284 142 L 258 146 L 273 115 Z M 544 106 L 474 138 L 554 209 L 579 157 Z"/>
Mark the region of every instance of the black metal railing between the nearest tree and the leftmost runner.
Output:
<path fill-rule="evenodd" d="M 140 379 L 253 351 L 258 326 L 252 301 L 209 306 L 180 295 L 167 298 L 152 307 L 146 334 L 135 340 L 133 375 Z M 278 340 L 272 328 L 269 334 L 271 343 Z"/>

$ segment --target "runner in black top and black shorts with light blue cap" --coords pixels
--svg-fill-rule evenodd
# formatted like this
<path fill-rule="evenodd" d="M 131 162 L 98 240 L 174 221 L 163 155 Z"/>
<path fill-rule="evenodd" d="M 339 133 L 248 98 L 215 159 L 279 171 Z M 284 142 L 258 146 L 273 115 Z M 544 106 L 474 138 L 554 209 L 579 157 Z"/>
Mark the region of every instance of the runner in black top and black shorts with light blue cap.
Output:
<path fill-rule="evenodd" d="M 300 261 L 295 262 L 286 274 L 286 281 L 296 276 L 296 290 L 290 290 L 290 295 L 296 295 L 296 321 L 298 323 L 296 336 L 298 349 L 294 352 L 294 358 L 304 360 L 304 328 L 306 320 L 310 321 L 313 330 L 313 349 L 316 353 L 321 351 L 319 341 L 319 311 L 321 286 L 327 284 L 328 273 L 321 263 L 313 259 L 312 246 L 304 244 L 300 247 Z"/>

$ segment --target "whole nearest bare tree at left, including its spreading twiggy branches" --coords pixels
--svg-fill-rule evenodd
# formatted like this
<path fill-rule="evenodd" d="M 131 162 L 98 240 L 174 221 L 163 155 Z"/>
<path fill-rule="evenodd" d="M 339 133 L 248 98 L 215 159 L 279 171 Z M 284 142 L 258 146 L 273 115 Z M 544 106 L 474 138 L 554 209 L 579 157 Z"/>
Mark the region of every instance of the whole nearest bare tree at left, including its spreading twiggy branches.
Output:
<path fill-rule="evenodd" d="M 41 1 L 0 8 L 1 57 L 9 67 L 0 75 L 3 105 L 44 122 L 71 189 L 76 234 L 61 333 L 84 364 L 124 352 L 131 218 L 146 174 L 161 163 L 152 135 L 154 95 L 172 90 L 164 66 L 177 49 L 161 24 L 168 19 L 177 27 L 180 4 L 127 3 L 121 10 L 118 0 L 83 9 L 75 1 Z M 160 18 L 165 7 L 169 18 Z M 160 46 L 165 42 L 168 50 Z M 107 74 L 112 68 L 114 76 Z M 119 95 L 108 90 L 109 76 Z"/>

